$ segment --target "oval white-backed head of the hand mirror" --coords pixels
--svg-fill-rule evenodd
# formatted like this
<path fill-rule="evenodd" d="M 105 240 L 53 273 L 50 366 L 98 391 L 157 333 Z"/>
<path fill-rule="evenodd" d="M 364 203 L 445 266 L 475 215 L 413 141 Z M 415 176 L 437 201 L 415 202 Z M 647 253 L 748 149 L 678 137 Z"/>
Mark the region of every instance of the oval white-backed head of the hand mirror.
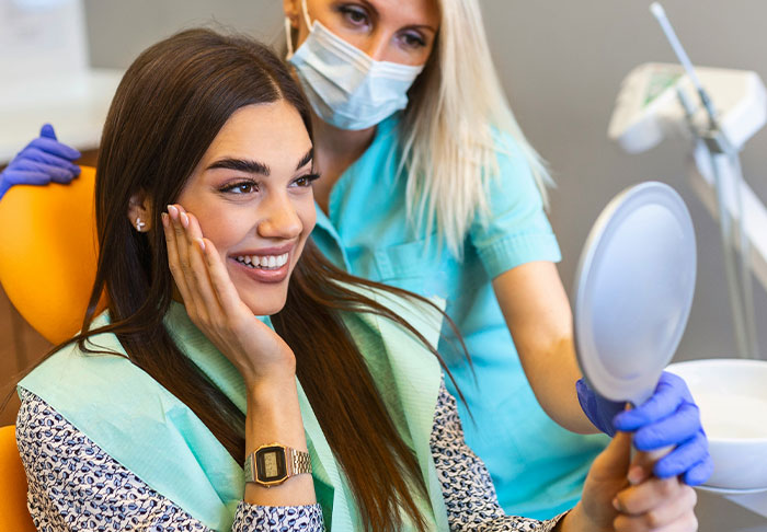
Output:
<path fill-rule="evenodd" d="M 642 183 L 607 205 L 574 284 L 577 360 L 593 390 L 650 398 L 687 325 L 696 268 L 692 220 L 672 187 Z"/>

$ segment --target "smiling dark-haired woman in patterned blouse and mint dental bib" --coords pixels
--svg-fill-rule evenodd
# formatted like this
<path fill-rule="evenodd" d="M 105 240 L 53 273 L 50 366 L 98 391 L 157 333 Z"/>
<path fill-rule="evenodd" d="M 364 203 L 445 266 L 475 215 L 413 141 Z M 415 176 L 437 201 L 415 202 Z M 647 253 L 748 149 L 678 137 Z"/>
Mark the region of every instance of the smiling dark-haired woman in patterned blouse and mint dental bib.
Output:
<path fill-rule="evenodd" d="M 626 488 L 627 437 L 566 516 L 503 514 L 445 388 L 444 314 L 309 239 L 310 117 L 245 38 L 187 31 L 128 69 L 102 137 L 82 333 L 19 383 L 36 525 L 691 530 L 676 478 Z"/>

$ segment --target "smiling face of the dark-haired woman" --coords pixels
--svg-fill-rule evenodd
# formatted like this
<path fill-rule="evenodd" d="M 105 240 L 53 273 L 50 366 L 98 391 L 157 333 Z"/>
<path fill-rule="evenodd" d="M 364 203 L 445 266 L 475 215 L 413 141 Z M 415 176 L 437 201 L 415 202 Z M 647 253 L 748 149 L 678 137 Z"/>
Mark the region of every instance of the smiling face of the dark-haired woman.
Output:
<path fill-rule="evenodd" d="M 285 305 L 289 275 L 314 228 L 312 167 L 311 139 L 295 106 L 248 105 L 227 120 L 176 198 L 197 216 L 256 315 Z M 131 198 L 129 217 L 152 218 L 147 197 Z"/>

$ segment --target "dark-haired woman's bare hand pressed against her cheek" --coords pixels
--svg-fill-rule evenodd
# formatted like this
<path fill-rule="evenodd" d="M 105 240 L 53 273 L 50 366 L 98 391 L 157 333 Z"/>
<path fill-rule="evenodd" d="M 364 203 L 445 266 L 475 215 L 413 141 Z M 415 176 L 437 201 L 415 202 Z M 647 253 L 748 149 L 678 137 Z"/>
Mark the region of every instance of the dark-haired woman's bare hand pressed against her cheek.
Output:
<path fill-rule="evenodd" d="M 169 206 L 162 225 L 169 267 L 192 322 L 238 368 L 249 390 L 265 382 L 293 382 L 293 351 L 242 302 L 194 215 Z"/>

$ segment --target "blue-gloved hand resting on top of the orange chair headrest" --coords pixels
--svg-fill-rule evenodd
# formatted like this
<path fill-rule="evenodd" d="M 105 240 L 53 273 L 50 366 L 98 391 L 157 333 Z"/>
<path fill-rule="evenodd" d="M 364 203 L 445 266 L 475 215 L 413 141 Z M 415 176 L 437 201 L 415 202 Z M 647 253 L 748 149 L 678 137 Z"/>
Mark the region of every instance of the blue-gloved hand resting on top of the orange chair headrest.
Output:
<path fill-rule="evenodd" d="M 20 151 L 5 170 L 0 173 L 0 198 L 13 185 L 47 185 L 69 183 L 80 175 L 80 167 L 72 161 L 80 152 L 56 140 L 50 124 L 39 131 L 39 137 Z"/>

